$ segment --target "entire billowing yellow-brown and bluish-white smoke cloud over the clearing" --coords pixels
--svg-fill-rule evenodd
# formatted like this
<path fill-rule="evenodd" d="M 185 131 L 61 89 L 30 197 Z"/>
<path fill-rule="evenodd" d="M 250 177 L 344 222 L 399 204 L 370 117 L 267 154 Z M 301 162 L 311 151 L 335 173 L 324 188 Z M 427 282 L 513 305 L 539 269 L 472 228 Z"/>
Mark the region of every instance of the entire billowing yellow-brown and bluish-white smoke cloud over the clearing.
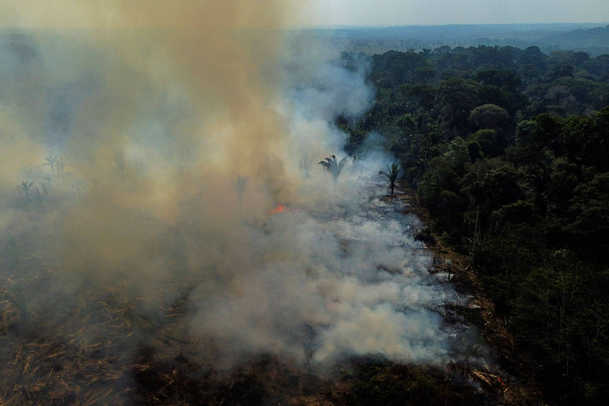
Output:
<path fill-rule="evenodd" d="M 414 225 L 368 198 L 387 158 L 349 162 L 337 190 L 317 165 L 344 156 L 336 117 L 371 107 L 365 61 L 284 37 L 280 1 L 4 7 L 2 265 L 25 278 L 5 289 L 20 284 L 40 334 L 62 323 L 51 309 L 86 312 L 93 292 L 137 303 L 133 331 L 179 319 L 227 365 L 446 354 L 448 296 L 404 234 Z M 278 204 L 291 211 L 270 215 Z M 188 318 L 160 310 L 180 301 Z"/>

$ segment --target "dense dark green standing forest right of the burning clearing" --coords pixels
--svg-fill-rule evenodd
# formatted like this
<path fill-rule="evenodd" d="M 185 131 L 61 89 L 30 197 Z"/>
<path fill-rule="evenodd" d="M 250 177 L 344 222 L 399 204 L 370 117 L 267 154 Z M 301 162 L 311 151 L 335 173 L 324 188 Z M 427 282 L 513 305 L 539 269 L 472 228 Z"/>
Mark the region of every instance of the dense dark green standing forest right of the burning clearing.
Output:
<path fill-rule="evenodd" d="M 609 394 L 609 55 L 441 46 L 371 57 L 377 90 L 341 117 L 348 153 L 384 149 L 468 257 L 547 402 Z"/>

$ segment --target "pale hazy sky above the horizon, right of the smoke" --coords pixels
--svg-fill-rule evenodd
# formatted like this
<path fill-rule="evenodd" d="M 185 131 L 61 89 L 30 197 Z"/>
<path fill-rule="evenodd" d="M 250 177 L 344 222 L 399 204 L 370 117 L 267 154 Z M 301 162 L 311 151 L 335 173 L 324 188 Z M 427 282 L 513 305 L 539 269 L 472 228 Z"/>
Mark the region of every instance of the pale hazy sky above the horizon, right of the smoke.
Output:
<path fill-rule="evenodd" d="M 608 0 L 311 0 L 314 25 L 596 23 Z"/>

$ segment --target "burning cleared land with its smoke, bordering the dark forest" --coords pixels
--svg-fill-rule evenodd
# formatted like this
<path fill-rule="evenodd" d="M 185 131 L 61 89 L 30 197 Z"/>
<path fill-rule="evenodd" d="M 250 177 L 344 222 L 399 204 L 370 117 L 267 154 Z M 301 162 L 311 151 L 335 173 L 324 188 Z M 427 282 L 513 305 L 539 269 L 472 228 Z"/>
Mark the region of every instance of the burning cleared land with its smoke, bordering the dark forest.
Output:
<path fill-rule="evenodd" d="M 312 170 L 364 61 L 292 55 L 272 0 L 10 3 L 44 29 L 0 43 L 1 404 L 520 399 L 400 165 Z"/>

